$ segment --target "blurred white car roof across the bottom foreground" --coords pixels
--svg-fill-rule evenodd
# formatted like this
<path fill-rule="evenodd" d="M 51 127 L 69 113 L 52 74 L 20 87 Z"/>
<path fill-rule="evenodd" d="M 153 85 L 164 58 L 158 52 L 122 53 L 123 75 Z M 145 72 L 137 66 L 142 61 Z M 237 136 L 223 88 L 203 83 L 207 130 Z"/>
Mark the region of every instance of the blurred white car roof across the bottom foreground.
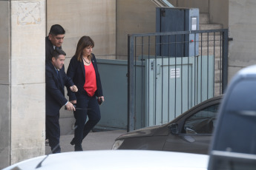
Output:
<path fill-rule="evenodd" d="M 45 158 L 46 157 L 46 158 Z M 45 159 L 45 160 L 44 160 Z M 43 160 L 43 161 L 42 161 Z M 40 162 L 41 165 L 40 165 Z M 180 152 L 99 150 L 49 154 L 24 160 L 3 170 L 19 169 L 174 169 L 206 170 L 209 156 Z"/>

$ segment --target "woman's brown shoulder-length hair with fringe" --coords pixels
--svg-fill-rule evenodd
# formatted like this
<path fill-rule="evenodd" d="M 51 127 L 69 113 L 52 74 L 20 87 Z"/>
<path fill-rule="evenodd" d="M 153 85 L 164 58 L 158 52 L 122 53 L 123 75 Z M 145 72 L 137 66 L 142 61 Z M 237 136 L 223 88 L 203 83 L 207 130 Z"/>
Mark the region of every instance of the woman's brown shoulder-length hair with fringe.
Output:
<path fill-rule="evenodd" d="M 78 61 L 82 62 L 82 50 L 84 50 L 86 47 L 94 47 L 94 41 L 89 36 L 82 36 L 76 47 L 76 57 Z M 88 59 L 91 60 L 92 55 L 88 56 Z"/>

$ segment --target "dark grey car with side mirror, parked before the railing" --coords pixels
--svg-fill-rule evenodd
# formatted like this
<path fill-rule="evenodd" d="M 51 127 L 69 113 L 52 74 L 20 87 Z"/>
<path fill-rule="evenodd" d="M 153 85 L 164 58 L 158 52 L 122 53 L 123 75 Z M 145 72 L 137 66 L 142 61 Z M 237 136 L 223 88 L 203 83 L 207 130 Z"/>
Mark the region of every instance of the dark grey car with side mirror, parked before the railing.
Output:
<path fill-rule="evenodd" d="M 204 101 L 161 126 L 128 132 L 112 149 L 144 149 L 208 154 L 222 95 Z"/>

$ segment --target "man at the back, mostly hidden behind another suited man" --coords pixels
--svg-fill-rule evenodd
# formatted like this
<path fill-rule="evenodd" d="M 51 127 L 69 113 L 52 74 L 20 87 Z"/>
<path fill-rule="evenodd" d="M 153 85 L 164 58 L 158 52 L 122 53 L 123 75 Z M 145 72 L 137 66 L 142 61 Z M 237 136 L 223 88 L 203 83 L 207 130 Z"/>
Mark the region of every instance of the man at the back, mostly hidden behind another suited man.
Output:
<path fill-rule="evenodd" d="M 65 37 L 65 30 L 59 24 L 54 24 L 50 27 L 50 32 L 45 37 L 45 61 L 51 60 L 53 50 L 62 49 L 62 43 Z"/>

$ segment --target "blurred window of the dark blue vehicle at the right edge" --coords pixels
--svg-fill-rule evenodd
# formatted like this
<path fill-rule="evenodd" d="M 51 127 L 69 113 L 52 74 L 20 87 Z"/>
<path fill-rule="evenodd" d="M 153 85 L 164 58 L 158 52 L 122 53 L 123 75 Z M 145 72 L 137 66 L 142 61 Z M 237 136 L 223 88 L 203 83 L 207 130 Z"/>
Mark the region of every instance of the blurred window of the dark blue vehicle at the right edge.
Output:
<path fill-rule="evenodd" d="M 256 154 L 256 81 L 243 80 L 233 86 L 222 110 L 215 144 L 219 151 Z M 226 123 L 229 122 L 229 123 Z"/>

